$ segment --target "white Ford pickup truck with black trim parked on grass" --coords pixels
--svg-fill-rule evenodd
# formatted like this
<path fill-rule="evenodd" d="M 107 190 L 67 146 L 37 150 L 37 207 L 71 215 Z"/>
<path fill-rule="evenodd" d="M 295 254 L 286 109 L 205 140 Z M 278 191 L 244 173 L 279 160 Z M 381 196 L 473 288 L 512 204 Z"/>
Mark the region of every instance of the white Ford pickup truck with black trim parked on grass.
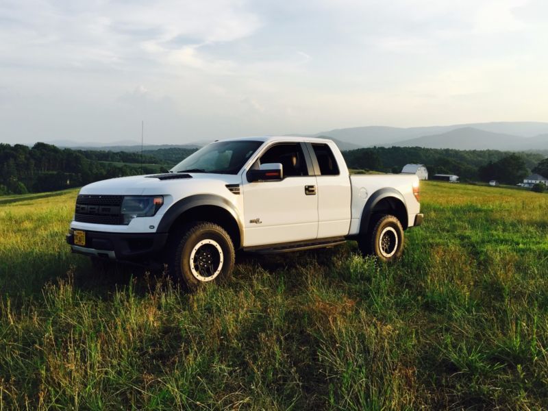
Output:
<path fill-rule="evenodd" d="M 349 175 L 332 140 L 237 138 L 169 173 L 83 187 L 66 241 L 94 260 L 167 264 L 197 288 L 229 277 L 236 250 L 357 240 L 362 253 L 395 260 L 404 230 L 422 221 L 415 175 Z"/>

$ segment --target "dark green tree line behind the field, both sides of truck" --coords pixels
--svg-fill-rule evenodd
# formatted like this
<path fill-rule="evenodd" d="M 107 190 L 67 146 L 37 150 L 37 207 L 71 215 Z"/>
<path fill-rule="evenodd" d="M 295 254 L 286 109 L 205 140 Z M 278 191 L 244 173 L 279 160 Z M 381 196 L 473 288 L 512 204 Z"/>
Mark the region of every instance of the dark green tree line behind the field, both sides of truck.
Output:
<path fill-rule="evenodd" d="M 60 149 L 0 144 L 0 195 L 79 187 L 112 177 L 166 172 L 196 149 L 173 147 L 126 151 Z M 533 171 L 548 177 L 548 159 L 535 153 L 497 150 L 373 147 L 344 151 L 349 168 L 400 173 L 408 163 L 425 164 L 430 175 L 456 174 L 464 181 L 516 184 Z M 140 166 L 141 162 L 144 164 Z M 155 165 L 154 165 L 155 164 Z"/>

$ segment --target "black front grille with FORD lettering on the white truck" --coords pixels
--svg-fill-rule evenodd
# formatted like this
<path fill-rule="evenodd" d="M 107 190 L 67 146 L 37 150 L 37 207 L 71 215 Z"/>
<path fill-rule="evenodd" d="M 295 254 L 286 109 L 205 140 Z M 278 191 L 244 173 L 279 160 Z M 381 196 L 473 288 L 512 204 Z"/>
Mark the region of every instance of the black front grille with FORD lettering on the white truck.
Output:
<path fill-rule="evenodd" d="M 121 225 L 123 195 L 79 195 L 75 221 L 92 224 Z"/>

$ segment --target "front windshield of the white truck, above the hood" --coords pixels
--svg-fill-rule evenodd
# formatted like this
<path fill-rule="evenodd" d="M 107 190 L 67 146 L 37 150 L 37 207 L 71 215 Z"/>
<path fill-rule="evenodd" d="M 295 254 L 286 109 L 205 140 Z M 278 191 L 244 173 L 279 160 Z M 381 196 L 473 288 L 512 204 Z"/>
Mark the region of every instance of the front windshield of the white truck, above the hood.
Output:
<path fill-rule="evenodd" d="M 171 171 L 174 173 L 236 174 L 262 145 L 262 141 L 214 142 L 189 155 Z"/>

